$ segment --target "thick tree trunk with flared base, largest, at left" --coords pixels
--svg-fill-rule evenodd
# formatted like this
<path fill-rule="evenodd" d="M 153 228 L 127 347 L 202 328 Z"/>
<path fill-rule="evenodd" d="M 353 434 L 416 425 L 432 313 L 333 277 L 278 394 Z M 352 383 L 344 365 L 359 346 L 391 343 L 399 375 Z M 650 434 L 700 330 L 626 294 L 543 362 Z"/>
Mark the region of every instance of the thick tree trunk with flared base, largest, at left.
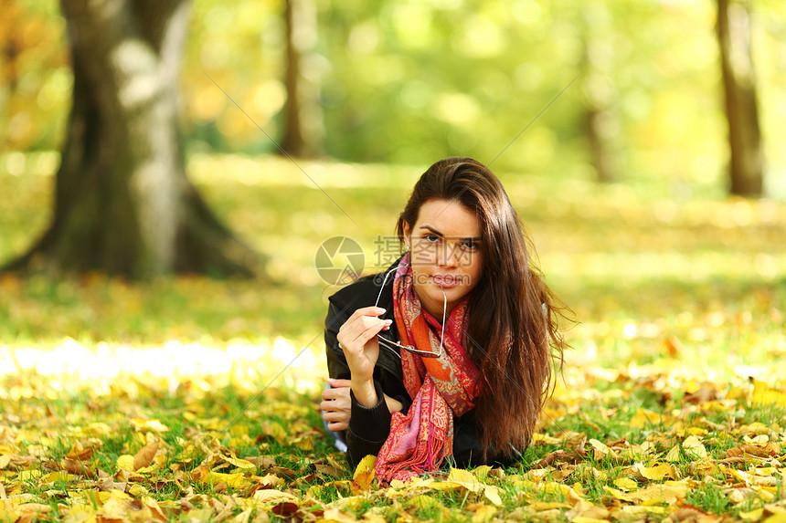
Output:
<path fill-rule="evenodd" d="M 37 245 L 5 268 L 253 274 L 253 253 L 186 178 L 176 94 L 188 6 L 61 0 L 74 88 L 54 215 Z"/>

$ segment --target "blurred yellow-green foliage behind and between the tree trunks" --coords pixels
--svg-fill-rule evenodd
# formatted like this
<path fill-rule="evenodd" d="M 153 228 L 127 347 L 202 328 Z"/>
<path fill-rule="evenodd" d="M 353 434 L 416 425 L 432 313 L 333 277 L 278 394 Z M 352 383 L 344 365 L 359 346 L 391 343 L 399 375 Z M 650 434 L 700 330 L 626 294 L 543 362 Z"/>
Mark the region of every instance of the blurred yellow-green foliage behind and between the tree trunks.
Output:
<path fill-rule="evenodd" d="M 505 151 L 499 168 L 591 180 L 583 135 L 591 99 L 608 104 L 623 179 L 659 181 L 675 197 L 725 194 L 710 0 L 314 3 L 319 40 L 303 58 L 304 76 L 319 86 L 330 156 L 413 164 L 462 154 L 492 162 Z M 786 5 L 753 4 L 768 183 L 782 197 Z M 64 22 L 53 0 L 3 5 L 0 147 L 58 149 L 71 88 Z M 189 151 L 274 151 L 232 100 L 278 140 L 287 96 L 283 3 L 195 0 L 193 11 L 182 69 Z M 582 65 L 588 44 L 600 64 L 591 81 Z"/>

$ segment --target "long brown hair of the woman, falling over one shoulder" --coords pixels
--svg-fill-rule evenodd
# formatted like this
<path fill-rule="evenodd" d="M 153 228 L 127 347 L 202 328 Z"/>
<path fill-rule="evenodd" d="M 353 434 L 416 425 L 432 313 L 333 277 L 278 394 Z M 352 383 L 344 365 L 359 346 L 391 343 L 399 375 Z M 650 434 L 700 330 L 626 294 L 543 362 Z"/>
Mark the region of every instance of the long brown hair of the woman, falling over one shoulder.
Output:
<path fill-rule="evenodd" d="M 420 176 L 396 230 L 418 221 L 432 199 L 458 201 L 481 225 L 481 280 L 473 289 L 464 347 L 481 371 L 475 425 L 483 457 L 523 450 L 535 431 L 566 347 L 558 326 L 565 308 L 532 260 L 534 248 L 502 183 L 472 158 L 447 158 Z"/>

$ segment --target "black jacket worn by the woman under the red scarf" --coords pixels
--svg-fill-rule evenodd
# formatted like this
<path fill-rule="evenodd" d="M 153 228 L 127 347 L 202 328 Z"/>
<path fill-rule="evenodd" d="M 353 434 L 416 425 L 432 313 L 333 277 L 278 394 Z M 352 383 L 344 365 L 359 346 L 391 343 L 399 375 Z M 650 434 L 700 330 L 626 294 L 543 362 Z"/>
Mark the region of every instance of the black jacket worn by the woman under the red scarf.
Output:
<path fill-rule="evenodd" d="M 398 261 L 395 265 L 398 264 Z M 390 270 L 390 269 L 388 269 Z M 344 351 L 338 346 L 338 329 L 356 311 L 370 307 L 377 303 L 378 307 L 386 309 L 381 319 L 392 319 L 393 325 L 381 334 L 389 340 L 398 341 L 398 330 L 393 313 L 393 275 L 388 277 L 382 294 L 380 286 L 386 273 L 361 277 L 351 285 L 336 292 L 330 299 L 327 318 L 324 325 L 324 343 L 327 355 L 327 370 L 331 378 L 350 379 L 349 367 L 346 364 Z M 357 403 L 354 395 L 352 398 L 352 413 L 349 420 L 349 429 L 345 431 L 344 440 L 347 446 L 347 459 L 355 467 L 366 455 L 377 455 L 382 444 L 390 434 L 390 412 L 385 403 L 383 393 L 388 394 L 402 403 L 402 413 L 409 412 L 412 399 L 404 387 L 404 375 L 401 369 L 401 356 L 398 348 L 384 342 L 379 344 L 379 357 L 374 368 L 374 385 L 377 389 L 379 402 L 370 409 Z M 489 452 L 486 461 L 500 465 L 511 465 L 515 461 L 515 454 L 493 455 Z M 482 465 L 483 449 L 478 440 L 474 425 L 474 413 L 470 411 L 455 418 L 453 426 L 453 459 L 456 466 Z"/>

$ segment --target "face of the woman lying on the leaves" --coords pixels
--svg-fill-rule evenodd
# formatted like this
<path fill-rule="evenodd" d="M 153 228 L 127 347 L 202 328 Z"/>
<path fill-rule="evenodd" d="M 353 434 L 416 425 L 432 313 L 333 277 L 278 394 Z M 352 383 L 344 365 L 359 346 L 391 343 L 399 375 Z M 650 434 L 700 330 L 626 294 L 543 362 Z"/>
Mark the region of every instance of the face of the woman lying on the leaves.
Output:
<path fill-rule="evenodd" d="M 441 321 L 444 297 L 448 298 L 446 314 L 450 314 L 480 280 L 480 221 L 458 201 L 428 200 L 420 205 L 414 225 L 404 223 L 404 241 L 411 251 L 420 304 Z"/>

